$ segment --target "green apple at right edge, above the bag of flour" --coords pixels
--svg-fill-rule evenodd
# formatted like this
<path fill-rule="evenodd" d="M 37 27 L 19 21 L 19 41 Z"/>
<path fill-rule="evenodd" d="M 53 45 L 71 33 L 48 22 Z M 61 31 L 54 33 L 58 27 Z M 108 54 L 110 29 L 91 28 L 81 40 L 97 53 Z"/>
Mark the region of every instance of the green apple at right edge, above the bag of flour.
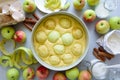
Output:
<path fill-rule="evenodd" d="M 120 17 L 112 17 L 109 20 L 111 29 L 120 29 Z"/>

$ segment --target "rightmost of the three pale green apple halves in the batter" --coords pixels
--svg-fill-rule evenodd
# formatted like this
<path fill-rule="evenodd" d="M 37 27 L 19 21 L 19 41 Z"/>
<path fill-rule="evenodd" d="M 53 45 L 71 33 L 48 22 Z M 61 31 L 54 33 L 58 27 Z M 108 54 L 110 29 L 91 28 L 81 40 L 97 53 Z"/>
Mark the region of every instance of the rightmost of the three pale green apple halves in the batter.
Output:
<path fill-rule="evenodd" d="M 70 33 L 66 33 L 62 35 L 62 41 L 64 45 L 69 46 L 73 42 L 73 36 Z"/>

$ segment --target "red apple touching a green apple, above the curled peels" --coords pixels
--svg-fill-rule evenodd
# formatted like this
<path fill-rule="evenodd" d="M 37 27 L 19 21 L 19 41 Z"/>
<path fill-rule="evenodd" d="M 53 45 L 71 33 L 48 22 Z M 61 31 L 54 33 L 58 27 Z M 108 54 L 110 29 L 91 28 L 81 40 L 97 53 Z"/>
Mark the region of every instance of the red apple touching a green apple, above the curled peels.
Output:
<path fill-rule="evenodd" d="M 14 40 L 16 42 L 25 42 L 26 40 L 26 34 L 24 31 L 16 31 L 15 34 L 14 34 Z"/>

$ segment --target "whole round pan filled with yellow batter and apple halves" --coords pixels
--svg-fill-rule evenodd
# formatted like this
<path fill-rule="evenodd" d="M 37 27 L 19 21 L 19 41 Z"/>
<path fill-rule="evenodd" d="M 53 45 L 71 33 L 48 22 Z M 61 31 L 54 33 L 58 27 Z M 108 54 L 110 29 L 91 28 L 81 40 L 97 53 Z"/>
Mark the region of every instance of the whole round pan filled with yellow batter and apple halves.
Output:
<path fill-rule="evenodd" d="M 89 32 L 84 22 L 67 12 L 54 12 L 40 19 L 32 30 L 34 57 L 43 66 L 63 71 L 87 55 Z"/>

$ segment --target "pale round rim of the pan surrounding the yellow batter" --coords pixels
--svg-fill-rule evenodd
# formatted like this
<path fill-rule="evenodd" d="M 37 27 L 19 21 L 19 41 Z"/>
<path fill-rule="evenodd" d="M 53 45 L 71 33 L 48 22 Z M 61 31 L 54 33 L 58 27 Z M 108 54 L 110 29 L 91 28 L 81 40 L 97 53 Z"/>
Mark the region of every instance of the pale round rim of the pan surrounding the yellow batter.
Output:
<path fill-rule="evenodd" d="M 56 14 L 62 14 L 62 15 L 67 15 L 67 16 L 70 16 L 72 17 L 73 19 L 77 20 L 83 27 L 83 29 L 85 30 L 86 32 L 86 36 L 87 36 L 87 44 L 86 44 L 86 49 L 83 53 L 83 55 L 74 63 L 70 64 L 69 66 L 63 66 L 63 67 L 54 67 L 54 66 L 51 66 L 49 64 L 47 64 L 46 62 L 44 62 L 37 54 L 37 52 L 35 51 L 34 49 L 34 45 L 33 45 L 33 37 L 34 37 L 34 32 L 36 31 L 37 27 L 39 26 L 39 24 L 47 17 L 49 16 L 54 16 Z M 37 23 L 36 25 L 34 26 L 33 30 L 32 30 L 32 37 L 31 37 L 31 47 L 32 47 L 32 51 L 33 51 L 33 55 L 34 57 L 37 59 L 37 61 L 47 67 L 48 69 L 51 69 L 51 70 L 55 70 L 55 71 L 63 71 L 63 70 L 67 70 L 67 69 L 70 69 L 76 65 L 78 65 L 82 60 L 83 58 L 87 55 L 87 51 L 88 51 L 88 48 L 89 48 L 89 32 L 88 32 L 88 29 L 86 27 L 86 25 L 84 24 L 84 22 L 78 18 L 77 16 L 73 15 L 73 14 L 70 14 L 70 13 L 67 13 L 67 12 L 54 12 L 54 13 L 50 13 L 50 14 L 47 14 L 45 15 L 44 17 L 42 17 Z"/>

